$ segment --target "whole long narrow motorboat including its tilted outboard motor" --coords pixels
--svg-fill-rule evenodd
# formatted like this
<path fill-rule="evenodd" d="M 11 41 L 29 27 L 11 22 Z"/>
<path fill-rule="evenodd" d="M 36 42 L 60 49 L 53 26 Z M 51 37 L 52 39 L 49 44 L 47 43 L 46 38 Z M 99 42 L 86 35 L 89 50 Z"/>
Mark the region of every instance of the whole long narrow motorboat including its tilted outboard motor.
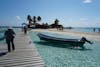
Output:
<path fill-rule="evenodd" d="M 85 42 L 91 43 L 84 37 L 82 39 L 67 39 L 67 38 L 59 38 L 59 37 L 50 36 L 50 35 L 44 34 L 44 33 L 38 33 L 37 36 L 40 38 L 40 40 L 45 40 L 45 41 L 49 41 L 49 42 L 65 43 L 65 44 L 71 45 L 72 47 L 84 48 Z"/>

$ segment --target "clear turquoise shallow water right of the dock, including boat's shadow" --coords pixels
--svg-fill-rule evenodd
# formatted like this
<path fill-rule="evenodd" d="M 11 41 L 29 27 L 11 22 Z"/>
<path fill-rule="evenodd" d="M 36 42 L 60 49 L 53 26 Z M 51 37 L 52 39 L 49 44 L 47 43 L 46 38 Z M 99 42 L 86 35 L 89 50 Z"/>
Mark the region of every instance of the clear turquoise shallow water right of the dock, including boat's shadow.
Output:
<path fill-rule="evenodd" d="M 85 50 L 69 49 L 60 43 L 40 41 L 36 34 L 30 32 L 31 39 L 47 67 L 100 67 L 100 42 L 94 41 L 93 45 L 86 43 Z"/>

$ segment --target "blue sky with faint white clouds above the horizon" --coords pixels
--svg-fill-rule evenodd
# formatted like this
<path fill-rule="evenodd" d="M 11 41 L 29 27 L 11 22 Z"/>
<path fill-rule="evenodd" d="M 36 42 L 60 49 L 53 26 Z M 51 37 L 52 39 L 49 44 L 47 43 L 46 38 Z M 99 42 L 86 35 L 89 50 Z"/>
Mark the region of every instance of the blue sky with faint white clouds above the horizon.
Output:
<path fill-rule="evenodd" d="M 27 15 L 41 16 L 41 23 L 72 27 L 100 27 L 100 0 L 0 0 L 0 25 L 27 23 Z"/>

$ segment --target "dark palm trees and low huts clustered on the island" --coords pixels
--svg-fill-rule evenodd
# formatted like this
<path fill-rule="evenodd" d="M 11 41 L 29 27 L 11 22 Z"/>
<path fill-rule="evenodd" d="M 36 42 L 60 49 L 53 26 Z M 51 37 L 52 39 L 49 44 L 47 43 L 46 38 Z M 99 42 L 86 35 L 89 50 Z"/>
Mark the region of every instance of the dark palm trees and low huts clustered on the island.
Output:
<path fill-rule="evenodd" d="M 40 16 L 33 16 L 31 17 L 30 15 L 27 15 L 27 20 L 28 20 L 28 28 L 63 28 L 63 25 L 59 24 L 59 20 L 55 19 L 52 24 L 48 23 L 42 23 L 40 24 L 39 22 L 42 20 Z"/>

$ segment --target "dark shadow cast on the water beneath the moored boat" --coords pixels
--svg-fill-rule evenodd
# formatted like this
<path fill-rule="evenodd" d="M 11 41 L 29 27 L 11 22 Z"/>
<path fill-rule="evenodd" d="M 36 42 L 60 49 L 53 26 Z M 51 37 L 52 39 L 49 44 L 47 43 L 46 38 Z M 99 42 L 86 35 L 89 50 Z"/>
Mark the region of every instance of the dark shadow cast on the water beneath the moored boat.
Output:
<path fill-rule="evenodd" d="M 92 49 L 87 49 L 87 48 L 82 49 L 80 47 L 72 47 L 69 44 L 60 43 L 60 42 L 34 41 L 34 43 L 39 44 L 39 45 L 46 45 L 46 46 L 52 46 L 52 47 L 58 47 L 58 48 L 67 48 L 67 49 L 73 49 L 73 50 L 82 50 L 82 51 L 92 50 Z"/>

